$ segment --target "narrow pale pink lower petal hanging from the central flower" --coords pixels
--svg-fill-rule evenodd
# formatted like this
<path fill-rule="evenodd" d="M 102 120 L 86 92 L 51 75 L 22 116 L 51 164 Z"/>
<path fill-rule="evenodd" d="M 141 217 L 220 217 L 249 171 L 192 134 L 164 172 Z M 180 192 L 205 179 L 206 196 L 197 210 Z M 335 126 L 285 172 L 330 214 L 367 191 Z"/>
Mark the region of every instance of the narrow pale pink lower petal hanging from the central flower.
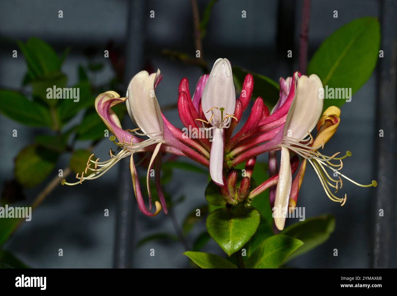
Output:
<path fill-rule="evenodd" d="M 212 138 L 210 154 L 210 175 L 212 181 L 218 185 L 224 185 L 223 182 L 223 162 L 224 162 L 224 129 L 214 128 L 214 137 Z"/>

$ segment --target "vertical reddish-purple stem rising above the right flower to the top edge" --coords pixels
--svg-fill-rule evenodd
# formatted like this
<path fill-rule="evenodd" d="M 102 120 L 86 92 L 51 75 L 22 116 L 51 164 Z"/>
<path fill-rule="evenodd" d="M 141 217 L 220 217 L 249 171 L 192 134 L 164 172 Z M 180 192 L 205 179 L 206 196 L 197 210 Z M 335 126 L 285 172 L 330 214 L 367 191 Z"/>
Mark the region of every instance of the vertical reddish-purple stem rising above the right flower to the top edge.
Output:
<path fill-rule="evenodd" d="M 311 0 L 303 0 L 301 34 L 299 35 L 299 72 L 306 74 L 307 67 L 307 43 L 310 21 Z"/>

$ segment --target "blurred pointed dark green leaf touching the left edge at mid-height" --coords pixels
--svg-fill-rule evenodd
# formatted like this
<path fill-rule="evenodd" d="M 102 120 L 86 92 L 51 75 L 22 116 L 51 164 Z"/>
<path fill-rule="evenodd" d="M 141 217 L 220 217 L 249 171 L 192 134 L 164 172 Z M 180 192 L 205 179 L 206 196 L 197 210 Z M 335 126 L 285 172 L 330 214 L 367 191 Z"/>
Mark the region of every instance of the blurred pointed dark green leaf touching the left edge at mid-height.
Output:
<path fill-rule="evenodd" d="M 9 118 L 29 126 L 51 127 L 48 109 L 38 103 L 29 101 L 16 91 L 0 90 L 0 110 Z"/>

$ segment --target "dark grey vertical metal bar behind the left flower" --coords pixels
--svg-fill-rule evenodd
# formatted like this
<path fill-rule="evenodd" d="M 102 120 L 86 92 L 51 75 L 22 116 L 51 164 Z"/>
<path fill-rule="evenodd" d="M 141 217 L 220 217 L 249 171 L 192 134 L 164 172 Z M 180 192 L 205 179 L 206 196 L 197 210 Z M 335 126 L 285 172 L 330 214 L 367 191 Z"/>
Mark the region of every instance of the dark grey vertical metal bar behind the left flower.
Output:
<path fill-rule="evenodd" d="M 128 1 L 127 36 L 126 36 L 126 63 L 124 83 L 125 89 L 131 77 L 139 72 L 143 66 L 144 29 L 145 29 L 145 1 Z M 123 94 L 121 94 L 123 95 Z M 129 171 L 129 159 L 120 161 L 116 237 L 114 244 L 114 267 L 131 268 L 134 249 L 134 193 Z"/>

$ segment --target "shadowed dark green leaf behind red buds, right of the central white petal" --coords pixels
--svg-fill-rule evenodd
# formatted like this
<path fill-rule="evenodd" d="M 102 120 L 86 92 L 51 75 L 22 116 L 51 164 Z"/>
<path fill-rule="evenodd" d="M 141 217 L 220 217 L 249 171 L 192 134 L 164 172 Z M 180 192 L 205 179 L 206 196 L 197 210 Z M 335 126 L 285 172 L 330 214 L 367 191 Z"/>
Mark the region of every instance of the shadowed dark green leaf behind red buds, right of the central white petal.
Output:
<path fill-rule="evenodd" d="M 240 67 L 232 67 L 232 72 L 237 92 L 241 91 L 245 76 L 248 73 L 251 73 L 252 76 L 254 76 L 254 91 L 252 93 L 252 99 L 256 100 L 256 98 L 261 97 L 269 109 L 276 105 L 280 95 L 280 87 L 276 81 Z"/>

